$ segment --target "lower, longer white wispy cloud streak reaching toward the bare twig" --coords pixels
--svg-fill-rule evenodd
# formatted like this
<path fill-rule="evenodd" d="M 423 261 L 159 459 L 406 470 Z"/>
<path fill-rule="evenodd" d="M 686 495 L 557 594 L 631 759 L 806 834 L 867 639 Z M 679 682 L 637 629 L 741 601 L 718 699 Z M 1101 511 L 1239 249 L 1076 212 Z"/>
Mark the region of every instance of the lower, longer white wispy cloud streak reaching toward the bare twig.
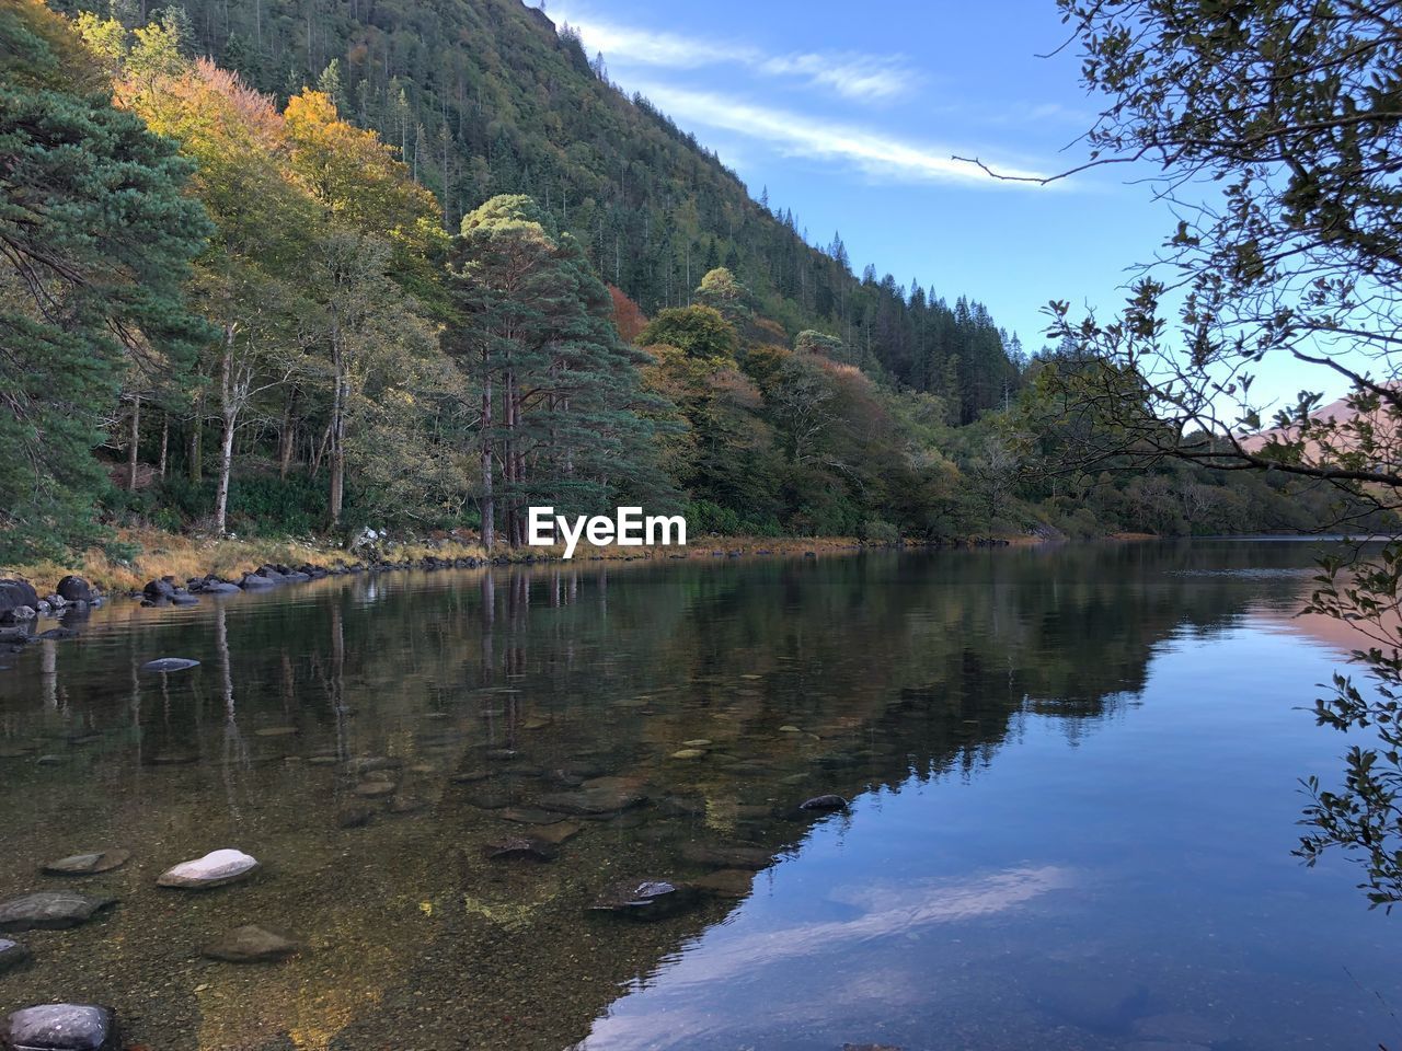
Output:
<path fill-rule="evenodd" d="M 1004 182 L 976 165 L 956 161 L 953 150 L 906 142 L 882 132 L 754 105 L 709 91 L 649 84 L 642 92 L 683 122 L 708 125 L 756 139 L 787 157 L 844 161 L 872 178 L 906 182 L 953 182 L 983 186 L 1029 186 Z M 997 164 L 1004 175 L 1040 178 L 1040 172 Z"/>

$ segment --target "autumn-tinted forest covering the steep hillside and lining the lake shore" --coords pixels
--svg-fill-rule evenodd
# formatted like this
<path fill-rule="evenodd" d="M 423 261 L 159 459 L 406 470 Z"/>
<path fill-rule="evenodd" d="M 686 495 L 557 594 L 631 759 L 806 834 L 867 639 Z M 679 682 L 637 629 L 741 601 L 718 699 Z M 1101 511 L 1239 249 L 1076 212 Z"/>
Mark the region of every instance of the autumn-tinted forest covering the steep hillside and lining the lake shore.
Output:
<path fill-rule="evenodd" d="M 133 523 L 516 545 L 534 503 L 892 542 L 1335 499 L 1060 469 L 1060 348 L 852 275 L 517 0 L 0 13 L 0 561 Z"/>

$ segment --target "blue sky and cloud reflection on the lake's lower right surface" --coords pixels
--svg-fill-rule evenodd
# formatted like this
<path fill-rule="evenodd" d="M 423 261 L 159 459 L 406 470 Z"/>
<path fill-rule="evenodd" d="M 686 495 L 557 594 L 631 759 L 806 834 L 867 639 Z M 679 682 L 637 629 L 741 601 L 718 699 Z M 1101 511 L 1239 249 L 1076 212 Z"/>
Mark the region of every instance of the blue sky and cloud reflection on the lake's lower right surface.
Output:
<path fill-rule="evenodd" d="M 1343 740 L 1295 692 L 1335 660 L 1277 624 L 1175 636 L 1129 717 L 1028 716 L 977 775 L 827 818 L 582 1047 L 1377 1045 L 1388 921 L 1290 856 Z"/>

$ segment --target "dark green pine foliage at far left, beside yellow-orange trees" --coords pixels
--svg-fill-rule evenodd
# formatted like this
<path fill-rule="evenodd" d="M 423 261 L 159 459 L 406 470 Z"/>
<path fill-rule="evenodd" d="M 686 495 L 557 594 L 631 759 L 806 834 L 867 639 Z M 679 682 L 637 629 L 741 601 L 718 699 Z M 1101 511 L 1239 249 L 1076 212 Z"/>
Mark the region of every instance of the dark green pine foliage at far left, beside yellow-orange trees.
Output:
<path fill-rule="evenodd" d="M 0 561 L 101 535 L 91 450 L 125 374 L 178 370 L 205 336 L 182 283 L 209 224 L 175 144 L 88 87 L 72 31 L 0 10 Z"/>

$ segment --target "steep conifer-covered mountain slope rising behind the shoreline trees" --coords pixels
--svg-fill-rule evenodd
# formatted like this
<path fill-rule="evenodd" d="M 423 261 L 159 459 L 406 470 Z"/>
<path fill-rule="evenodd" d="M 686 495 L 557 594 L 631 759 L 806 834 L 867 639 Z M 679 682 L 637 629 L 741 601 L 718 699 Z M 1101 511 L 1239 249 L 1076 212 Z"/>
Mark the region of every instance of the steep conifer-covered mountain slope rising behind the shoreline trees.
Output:
<path fill-rule="evenodd" d="M 111 7 L 129 25 L 153 0 Z M 573 32 L 520 0 L 184 0 L 202 53 L 286 98 L 304 84 L 402 151 L 446 223 L 495 193 L 530 193 L 648 314 L 691 301 L 728 266 L 791 342 L 844 341 L 850 360 L 946 395 L 970 422 L 1019 381 L 1015 341 L 977 303 L 946 303 L 871 268 L 840 237 L 817 248 L 784 209 L 756 202 L 716 156 L 641 97 L 627 98 Z M 966 245 L 966 249 L 977 245 Z"/>

